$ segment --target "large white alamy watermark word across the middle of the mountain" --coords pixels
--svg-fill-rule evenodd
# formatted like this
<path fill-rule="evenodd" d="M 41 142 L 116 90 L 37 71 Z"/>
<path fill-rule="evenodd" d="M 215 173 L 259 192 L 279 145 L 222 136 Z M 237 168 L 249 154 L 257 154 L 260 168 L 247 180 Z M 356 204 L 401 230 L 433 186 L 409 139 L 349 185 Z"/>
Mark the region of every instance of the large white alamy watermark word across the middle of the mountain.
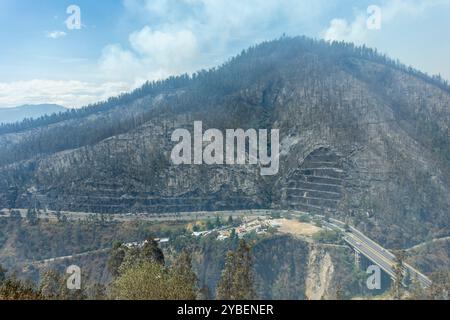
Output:
<path fill-rule="evenodd" d="M 193 135 L 187 129 L 172 133 L 172 142 L 178 144 L 170 158 L 175 165 L 260 165 L 261 175 L 272 176 L 280 166 L 279 130 L 270 130 L 270 141 L 268 136 L 267 129 L 227 129 L 224 137 L 218 129 L 203 132 L 202 122 L 195 121 Z"/>

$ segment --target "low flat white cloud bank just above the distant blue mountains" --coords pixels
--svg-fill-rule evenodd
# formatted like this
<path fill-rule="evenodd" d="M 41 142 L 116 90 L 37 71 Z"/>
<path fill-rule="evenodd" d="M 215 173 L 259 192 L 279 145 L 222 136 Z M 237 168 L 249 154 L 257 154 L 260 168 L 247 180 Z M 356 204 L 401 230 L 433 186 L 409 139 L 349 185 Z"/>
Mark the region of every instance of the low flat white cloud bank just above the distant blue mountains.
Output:
<path fill-rule="evenodd" d="M 130 86 L 123 82 L 98 84 L 76 80 L 42 79 L 0 82 L 0 106 L 55 103 L 65 107 L 78 108 L 130 89 Z"/>

